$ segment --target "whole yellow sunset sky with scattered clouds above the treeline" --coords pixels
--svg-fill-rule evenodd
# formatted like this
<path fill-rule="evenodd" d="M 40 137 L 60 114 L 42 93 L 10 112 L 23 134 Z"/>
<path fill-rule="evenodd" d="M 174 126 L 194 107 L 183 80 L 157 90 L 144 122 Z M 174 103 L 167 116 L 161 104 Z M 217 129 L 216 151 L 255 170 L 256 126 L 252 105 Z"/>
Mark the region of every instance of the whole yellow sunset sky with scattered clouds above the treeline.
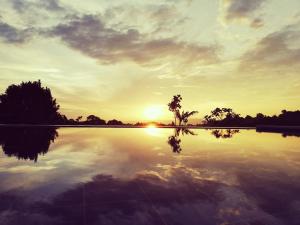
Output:
<path fill-rule="evenodd" d="M 68 117 L 300 108 L 299 0 L 0 0 L 0 93 L 41 80 Z"/>

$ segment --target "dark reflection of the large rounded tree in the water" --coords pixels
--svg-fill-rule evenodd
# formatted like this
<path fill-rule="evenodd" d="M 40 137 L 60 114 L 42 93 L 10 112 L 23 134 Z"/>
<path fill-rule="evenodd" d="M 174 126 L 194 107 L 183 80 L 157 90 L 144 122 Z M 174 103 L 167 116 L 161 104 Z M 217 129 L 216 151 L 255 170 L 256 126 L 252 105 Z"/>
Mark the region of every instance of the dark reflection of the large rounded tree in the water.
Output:
<path fill-rule="evenodd" d="M 55 128 L 0 128 L 0 145 L 8 156 L 18 159 L 34 160 L 46 154 L 51 142 L 58 137 Z"/>

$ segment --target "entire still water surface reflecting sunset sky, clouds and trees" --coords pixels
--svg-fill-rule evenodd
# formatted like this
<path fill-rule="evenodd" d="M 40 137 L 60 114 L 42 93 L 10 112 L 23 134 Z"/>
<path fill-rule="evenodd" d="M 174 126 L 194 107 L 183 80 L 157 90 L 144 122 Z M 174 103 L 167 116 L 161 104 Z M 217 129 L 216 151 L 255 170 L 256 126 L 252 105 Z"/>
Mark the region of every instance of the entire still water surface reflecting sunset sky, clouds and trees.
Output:
<path fill-rule="evenodd" d="M 300 224 L 300 138 L 1 128 L 0 224 Z"/>

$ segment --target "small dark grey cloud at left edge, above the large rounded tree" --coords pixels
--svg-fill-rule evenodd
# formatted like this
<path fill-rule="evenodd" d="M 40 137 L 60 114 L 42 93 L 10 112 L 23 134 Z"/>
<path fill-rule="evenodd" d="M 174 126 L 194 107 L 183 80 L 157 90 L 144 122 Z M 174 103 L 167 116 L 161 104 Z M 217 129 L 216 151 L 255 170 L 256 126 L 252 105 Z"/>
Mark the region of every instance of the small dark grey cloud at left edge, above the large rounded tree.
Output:
<path fill-rule="evenodd" d="M 32 29 L 17 29 L 0 21 L 0 39 L 6 43 L 23 43 L 32 35 Z"/>

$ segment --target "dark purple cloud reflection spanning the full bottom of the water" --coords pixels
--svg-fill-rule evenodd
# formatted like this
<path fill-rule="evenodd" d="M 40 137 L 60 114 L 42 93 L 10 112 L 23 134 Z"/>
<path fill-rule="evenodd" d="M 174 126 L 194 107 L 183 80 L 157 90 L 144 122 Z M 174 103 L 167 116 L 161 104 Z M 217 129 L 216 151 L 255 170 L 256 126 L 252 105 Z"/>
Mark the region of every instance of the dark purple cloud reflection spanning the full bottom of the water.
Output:
<path fill-rule="evenodd" d="M 201 179 L 198 171 L 184 166 L 165 169 L 162 174 L 144 171 L 130 179 L 99 174 L 47 201 L 30 201 L 32 196 L 19 191 L 5 192 L 0 194 L 0 221 L 9 224 L 24 218 L 24 225 L 42 218 L 43 224 L 53 225 L 241 221 L 294 225 L 299 219 L 295 196 L 299 183 L 292 184 L 289 179 L 245 173 L 239 176 L 240 186 L 227 186 Z M 14 215 L 13 219 L 7 214 Z"/>

